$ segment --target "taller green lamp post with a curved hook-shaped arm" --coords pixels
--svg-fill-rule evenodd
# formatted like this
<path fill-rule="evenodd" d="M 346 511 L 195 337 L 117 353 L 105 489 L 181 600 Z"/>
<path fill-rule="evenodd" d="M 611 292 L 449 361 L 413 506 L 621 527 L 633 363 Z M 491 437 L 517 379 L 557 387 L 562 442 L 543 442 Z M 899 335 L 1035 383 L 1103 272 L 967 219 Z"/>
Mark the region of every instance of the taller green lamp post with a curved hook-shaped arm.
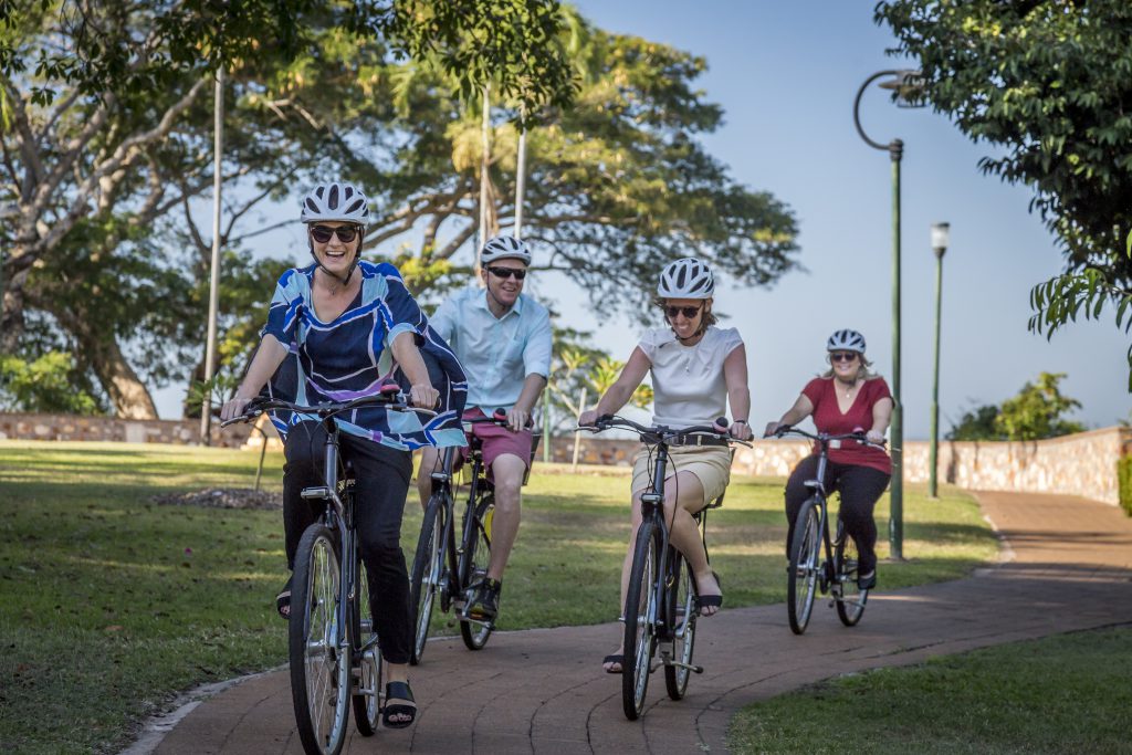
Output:
<path fill-rule="evenodd" d="M 900 403 L 900 158 L 904 154 L 904 143 L 892 139 L 889 144 L 874 141 L 860 126 L 860 98 L 868 85 L 878 78 L 889 80 L 880 84 L 882 88 L 897 92 L 897 104 L 915 108 L 912 96 L 919 89 L 919 71 L 884 70 L 873 74 L 857 91 L 852 103 L 852 120 L 857 132 L 865 144 L 874 149 L 889 153 L 892 161 L 892 483 L 891 514 L 889 516 L 889 551 L 894 559 L 901 559 L 903 554 L 904 525 L 904 484 L 902 446 L 904 440 L 903 406 Z"/>

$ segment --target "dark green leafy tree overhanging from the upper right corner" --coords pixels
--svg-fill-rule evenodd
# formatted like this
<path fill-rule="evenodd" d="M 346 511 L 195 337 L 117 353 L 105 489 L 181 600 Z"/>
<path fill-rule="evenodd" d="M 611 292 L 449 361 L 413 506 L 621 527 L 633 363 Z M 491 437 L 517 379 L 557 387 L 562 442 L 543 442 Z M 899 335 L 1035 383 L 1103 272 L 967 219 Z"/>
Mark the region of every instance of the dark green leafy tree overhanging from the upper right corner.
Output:
<path fill-rule="evenodd" d="M 875 19 L 895 34 L 892 52 L 919 62 L 932 105 L 1002 149 L 983 171 L 1032 187 L 1031 208 L 1060 240 L 1065 271 L 1035 286 L 1030 328 L 1052 335 L 1106 303 L 1121 325 L 1132 303 L 1132 3 L 885 0 Z"/>

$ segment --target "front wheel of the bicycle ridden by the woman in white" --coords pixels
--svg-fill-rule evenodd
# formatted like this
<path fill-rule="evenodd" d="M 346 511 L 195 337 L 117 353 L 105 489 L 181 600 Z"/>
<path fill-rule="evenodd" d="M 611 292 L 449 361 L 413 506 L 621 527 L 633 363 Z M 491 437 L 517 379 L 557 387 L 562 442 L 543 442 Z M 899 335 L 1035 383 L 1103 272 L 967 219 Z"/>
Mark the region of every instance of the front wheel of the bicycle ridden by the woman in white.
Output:
<path fill-rule="evenodd" d="M 644 711 L 649 692 L 652 657 L 657 649 L 657 569 L 660 563 L 660 534 L 652 522 L 637 530 L 625 593 L 625 659 L 621 663 L 621 707 L 625 718 L 636 721 Z"/>

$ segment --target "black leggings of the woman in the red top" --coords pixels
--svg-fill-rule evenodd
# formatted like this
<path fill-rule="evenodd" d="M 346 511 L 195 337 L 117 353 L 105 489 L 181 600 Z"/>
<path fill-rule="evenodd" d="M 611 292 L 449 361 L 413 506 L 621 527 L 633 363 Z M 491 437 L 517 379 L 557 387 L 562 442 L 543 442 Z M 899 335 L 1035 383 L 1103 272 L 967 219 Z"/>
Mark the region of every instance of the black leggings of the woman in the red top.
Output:
<path fill-rule="evenodd" d="M 798 511 L 813 491 L 806 487 L 806 480 L 817 477 L 817 456 L 807 456 L 798 462 L 786 483 L 786 518 L 790 527 L 786 535 L 786 555 L 790 558 L 790 543 L 794 540 L 794 523 Z M 841 494 L 841 518 L 849 531 L 857 550 L 860 551 L 860 574 L 876 568 L 876 522 L 873 521 L 873 508 L 881 494 L 889 487 L 891 474 L 875 470 L 872 466 L 857 464 L 835 464 L 829 462 L 825 466 L 825 489 L 832 494 L 837 489 Z"/>

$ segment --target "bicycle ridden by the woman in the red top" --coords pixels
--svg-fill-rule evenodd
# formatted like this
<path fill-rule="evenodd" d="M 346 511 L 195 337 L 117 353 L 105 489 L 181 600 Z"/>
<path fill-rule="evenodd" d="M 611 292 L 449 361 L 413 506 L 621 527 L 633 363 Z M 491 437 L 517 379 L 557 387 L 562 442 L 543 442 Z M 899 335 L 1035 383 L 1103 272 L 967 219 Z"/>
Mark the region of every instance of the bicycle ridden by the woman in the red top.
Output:
<path fill-rule="evenodd" d="M 857 543 L 846 531 L 840 512 L 837 532 L 833 540 L 830 540 L 825 469 L 830 448 L 838 447 L 833 444 L 854 440 L 881 449 L 884 446 L 867 440 L 864 432 L 814 435 L 789 426 L 780 427 L 774 432 L 777 438 L 784 435 L 809 438 L 818 445 L 816 479 L 807 480 L 805 483 L 814 494 L 798 509 L 794 538 L 790 542 L 790 564 L 787 566 L 787 615 L 790 619 L 790 630 L 795 634 L 806 630 L 814 608 L 814 597 L 818 590 L 823 595 L 830 593 L 831 604 L 837 607 L 838 618 L 842 624 L 847 627 L 856 626 L 865 614 L 868 590 L 857 586 L 859 563 Z M 823 547 L 825 558 L 818 563 Z"/>

